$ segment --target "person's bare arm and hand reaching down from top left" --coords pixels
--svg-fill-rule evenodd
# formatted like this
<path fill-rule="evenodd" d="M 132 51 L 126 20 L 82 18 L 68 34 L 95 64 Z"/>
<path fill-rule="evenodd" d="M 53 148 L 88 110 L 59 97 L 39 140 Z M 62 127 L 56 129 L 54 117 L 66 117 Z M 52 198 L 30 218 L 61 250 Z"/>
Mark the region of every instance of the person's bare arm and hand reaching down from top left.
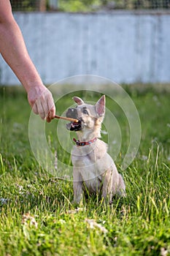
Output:
<path fill-rule="evenodd" d="M 31 61 L 23 35 L 16 23 L 9 0 L 0 1 L 0 53 L 23 84 L 34 113 L 51 121 L 55 105 L 50 91 L 43 85 Z"/>

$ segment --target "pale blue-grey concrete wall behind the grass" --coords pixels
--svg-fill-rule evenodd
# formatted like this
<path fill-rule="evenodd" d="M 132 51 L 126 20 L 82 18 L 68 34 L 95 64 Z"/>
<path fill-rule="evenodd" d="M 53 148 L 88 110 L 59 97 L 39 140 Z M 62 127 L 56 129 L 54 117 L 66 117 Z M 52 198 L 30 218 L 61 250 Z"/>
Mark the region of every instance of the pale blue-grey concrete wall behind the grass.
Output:
<path fill-rule="evenodd" d="M 15 13 L 45 83 L 93 74 L 170 83 L 170 13 Z M 19 83 L 0 57 L 0 83 Z"/>

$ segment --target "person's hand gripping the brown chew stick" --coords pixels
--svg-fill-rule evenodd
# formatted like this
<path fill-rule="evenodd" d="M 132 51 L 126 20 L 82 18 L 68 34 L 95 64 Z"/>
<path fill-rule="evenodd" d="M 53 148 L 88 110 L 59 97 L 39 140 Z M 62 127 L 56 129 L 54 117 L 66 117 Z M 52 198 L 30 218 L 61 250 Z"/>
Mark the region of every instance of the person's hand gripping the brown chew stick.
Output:
<path fill-rule="evenodd" d="M 55 118 L 55 104 L 51 92 L 45 86 L 35 86 L 28 91 L 28 102 L 34 113 L 50 122 Z"/>

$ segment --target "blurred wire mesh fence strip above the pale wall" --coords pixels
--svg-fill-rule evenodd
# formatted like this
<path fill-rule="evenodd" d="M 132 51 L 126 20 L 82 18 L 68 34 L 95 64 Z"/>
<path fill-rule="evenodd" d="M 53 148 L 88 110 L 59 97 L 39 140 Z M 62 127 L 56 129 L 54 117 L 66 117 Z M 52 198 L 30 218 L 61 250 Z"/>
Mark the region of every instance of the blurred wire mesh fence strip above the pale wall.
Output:
<path fill-rule="evenodd" d="M 77 11 L 98 11 L 98 10 L 163 10 L 170 9 L 170 0 L 10 0 L 13 11 L 69 11 L 74 6 L 75 1 L 80 9 Z M 85 3 L 88 4 L 85 4 Z M 96 4 L 96 2 L 98 4 Z M 83 4 L 84 5 L 83 5 Z M 95 4 L 94 4 L 95 3 Z M 70 8 L 74 11 L 74 8 Z"/>

